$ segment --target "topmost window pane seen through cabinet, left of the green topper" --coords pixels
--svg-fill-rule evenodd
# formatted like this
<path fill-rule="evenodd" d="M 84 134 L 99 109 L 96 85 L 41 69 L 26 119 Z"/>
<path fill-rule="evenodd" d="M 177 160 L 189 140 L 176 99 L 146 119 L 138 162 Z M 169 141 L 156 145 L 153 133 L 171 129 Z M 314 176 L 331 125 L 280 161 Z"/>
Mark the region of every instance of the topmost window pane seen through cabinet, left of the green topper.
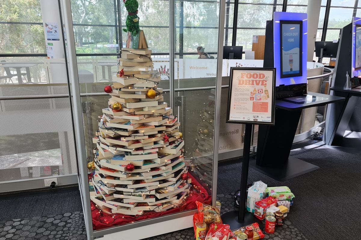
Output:
<path fill-rule="evenodd" d="M 74 24 L 115 24 L 114 1 L 71 0 Z"/>

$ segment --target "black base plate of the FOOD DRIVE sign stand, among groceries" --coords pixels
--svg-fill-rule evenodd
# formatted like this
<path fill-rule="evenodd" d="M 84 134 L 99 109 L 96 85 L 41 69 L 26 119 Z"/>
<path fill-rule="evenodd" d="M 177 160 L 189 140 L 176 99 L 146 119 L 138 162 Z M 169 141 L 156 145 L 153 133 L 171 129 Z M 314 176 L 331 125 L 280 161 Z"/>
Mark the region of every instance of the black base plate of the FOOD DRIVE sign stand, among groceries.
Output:
<path fill-rule="evenodd" d="M 256 218 L 251 212 L 245 211 L 244 221 L 238 221 L 238 211 L 230 211 L 222 214 L 221 216 L 223 224 L 228 224 L 231 230 L 236 230 L 240 227 L 251 225 L 257 222 L 260 229 L 263 230 L 263 223 L 260 219 Z"/>

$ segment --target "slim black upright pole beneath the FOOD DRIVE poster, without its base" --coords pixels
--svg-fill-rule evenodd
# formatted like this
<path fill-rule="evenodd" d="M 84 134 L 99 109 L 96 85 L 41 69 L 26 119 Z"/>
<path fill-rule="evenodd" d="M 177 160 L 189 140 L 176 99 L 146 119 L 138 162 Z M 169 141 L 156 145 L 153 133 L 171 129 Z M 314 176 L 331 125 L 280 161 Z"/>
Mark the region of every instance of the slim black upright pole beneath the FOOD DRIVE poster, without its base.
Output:
<path fill-rule="evenodd" d="M 238 220 L 244 221 L 244 212 L 246 205 L 246 191 L 247 191 L 247 180 L 248 180 L 248 165 L 249 165 L 249 151 L 251 150 L 251 139 L 252 138 L 252 124 L 245 124 L 244 130 L 244 145 L 243 145 L 243 160 L 242 160 L 242 176 L 241 176 L 241 193 L 239 201 L 239 214 Z"/>

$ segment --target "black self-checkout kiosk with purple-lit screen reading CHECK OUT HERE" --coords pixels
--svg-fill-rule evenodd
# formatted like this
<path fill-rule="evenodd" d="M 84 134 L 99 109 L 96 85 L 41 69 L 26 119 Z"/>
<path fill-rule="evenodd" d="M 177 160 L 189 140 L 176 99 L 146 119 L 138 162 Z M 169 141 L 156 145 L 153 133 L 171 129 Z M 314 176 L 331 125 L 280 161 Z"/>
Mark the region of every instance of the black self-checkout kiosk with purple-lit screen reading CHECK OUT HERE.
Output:
<path fill-rule="evenodd" d="M 266 25 L 264 67 L 276 68 L 275 125 L 258 127 L 257 158 L 250 166 L 278 181 L 318 169 L 291 157 L 302 110 L 342 100 L 307 93 L 307 14 L 274 12 Z"/>

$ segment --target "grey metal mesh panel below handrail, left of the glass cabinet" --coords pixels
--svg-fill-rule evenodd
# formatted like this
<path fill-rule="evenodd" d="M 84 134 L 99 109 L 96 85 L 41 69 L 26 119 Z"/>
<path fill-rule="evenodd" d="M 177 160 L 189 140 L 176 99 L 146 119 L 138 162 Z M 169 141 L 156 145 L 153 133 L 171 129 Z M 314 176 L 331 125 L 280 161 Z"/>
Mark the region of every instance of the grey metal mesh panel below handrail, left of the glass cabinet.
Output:
<path fill-rule="evenodd" d="M 77 172 L 68 98 L 2 100 L 0 107 L 0 182 Z"/>

